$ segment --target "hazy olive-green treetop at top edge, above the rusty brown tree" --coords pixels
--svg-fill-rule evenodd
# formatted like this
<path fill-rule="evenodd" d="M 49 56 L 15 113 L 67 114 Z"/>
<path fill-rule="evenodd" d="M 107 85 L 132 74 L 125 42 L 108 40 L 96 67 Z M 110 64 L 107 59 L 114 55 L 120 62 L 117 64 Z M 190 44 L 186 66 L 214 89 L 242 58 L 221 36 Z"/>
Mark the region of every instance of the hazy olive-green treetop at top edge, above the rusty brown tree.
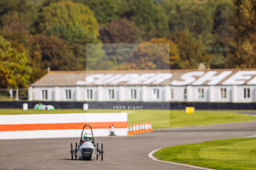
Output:
<path fill-rule="evenodd" d="M 162 0 L 169 19 L 169 29 L 172 34 L 177 31 L 188 31 L 196 38 L 202 38 L 213 28 L 212 7 L 206 6 L 207 1 Z"/>

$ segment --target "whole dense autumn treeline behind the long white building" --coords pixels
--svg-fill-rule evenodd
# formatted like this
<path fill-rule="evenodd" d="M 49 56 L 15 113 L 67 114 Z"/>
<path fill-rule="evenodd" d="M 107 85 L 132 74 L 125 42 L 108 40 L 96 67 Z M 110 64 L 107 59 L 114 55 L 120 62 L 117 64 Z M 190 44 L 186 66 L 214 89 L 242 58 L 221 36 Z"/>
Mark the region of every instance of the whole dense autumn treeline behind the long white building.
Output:
<path fill-rule="evenodd" d="M 255 9 L 255 0 L 0 0 L 0 88 L 26 88 L 49 66 L 255 68 Z"/>

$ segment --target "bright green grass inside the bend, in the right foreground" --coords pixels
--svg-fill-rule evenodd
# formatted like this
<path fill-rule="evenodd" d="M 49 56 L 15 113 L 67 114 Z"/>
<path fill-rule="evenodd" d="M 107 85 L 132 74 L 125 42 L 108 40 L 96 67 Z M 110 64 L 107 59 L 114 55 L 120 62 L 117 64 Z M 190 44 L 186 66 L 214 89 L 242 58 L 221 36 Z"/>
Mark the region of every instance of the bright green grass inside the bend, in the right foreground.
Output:
<path fill-rule="evenodd" d="M 163 161 L 213 169 L 256 167 L 256 138 L 235 138 L 163 148 L 154 156 Z"/>

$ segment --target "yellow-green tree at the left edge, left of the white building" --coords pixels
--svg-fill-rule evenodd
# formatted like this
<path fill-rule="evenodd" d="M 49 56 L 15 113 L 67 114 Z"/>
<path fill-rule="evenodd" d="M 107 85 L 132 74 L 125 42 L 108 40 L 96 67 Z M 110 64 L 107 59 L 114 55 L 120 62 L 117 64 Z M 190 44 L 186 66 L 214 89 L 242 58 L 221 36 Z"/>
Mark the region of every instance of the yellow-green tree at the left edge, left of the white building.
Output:
<path fill-rule="evenodd" d="M 27 88 L 32 72 L 28 51 L 17 42 L 0 36 L 0 87 Z"/>

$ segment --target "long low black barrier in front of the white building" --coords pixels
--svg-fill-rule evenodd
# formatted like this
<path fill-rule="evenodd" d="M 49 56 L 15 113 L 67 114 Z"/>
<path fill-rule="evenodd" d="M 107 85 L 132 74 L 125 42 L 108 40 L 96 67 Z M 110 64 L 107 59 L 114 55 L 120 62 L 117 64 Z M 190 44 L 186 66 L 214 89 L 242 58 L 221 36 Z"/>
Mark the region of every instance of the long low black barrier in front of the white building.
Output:
<path fill-rule="evenodd" d="M 39 101 L 0 101 L 0 108 L 34 108 Z M 255 110 L 256 103 L 216 103 L 216 102 L 72 102 L 72 101 L 40 101 L 45 105 L 53 105 L 55 109 L 83 109 L 88 103 L 89 109 L 163 109 L 183 110 L 186 107 L 195 107 L 196 110 Z M 114 108 L 115 107 L 115 108 Z M 118 108 L 117 108 L 118 107 Z"/>

